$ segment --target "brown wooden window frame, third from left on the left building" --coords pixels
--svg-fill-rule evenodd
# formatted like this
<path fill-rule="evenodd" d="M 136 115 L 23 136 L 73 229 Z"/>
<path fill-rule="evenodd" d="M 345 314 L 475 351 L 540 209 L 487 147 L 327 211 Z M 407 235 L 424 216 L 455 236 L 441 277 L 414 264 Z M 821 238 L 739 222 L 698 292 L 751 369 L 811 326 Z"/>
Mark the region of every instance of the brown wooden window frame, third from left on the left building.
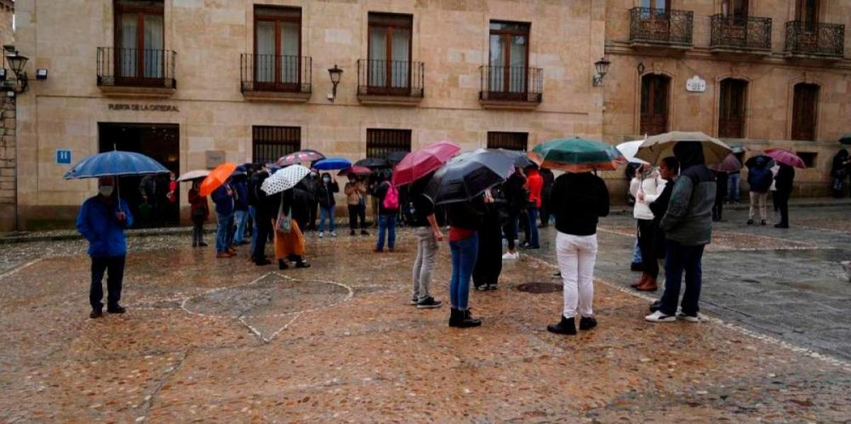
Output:
<path fill-rule="evenodd" d="M 393 30 L 395 28 L 408 30 L 408 77 L 405 87 L 393 87 Z M 369 36 L 373 31 L 386 32 L 386 70 L 385 82 L 382 85 L 373 85 L 369 77 L 369 69 L 372 64 L 372 43 Z M 414 15 L 413 14 L 391 14 L 385 12 L 369 12 L 367 14 L 367 86 L 370 94 L 408 94 L 411 87 L 411 69 L 414 67 L 412 57 L 414 54 Z"/>

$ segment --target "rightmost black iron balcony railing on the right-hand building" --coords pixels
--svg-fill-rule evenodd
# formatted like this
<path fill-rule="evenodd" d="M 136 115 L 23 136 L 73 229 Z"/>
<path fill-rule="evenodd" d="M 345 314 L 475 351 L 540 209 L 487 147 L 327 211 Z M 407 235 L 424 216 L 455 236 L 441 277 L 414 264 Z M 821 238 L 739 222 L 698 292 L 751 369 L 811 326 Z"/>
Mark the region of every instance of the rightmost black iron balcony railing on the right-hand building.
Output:
<path fill-rule="evenodd" d="M 786 22 L 786 53 L 842 57 L 845 26 L 792 20 Z"/>

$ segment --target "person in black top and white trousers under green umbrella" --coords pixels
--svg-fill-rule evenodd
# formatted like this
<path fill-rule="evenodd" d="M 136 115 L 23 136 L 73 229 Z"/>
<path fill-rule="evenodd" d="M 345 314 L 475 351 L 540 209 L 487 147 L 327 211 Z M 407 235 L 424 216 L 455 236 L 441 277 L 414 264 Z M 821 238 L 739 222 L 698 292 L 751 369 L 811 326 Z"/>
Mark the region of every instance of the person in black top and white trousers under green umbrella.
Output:
<path fill-rule="evenodd" d="M 579 309 L 580 329 L 597 326 L 594 318 L 594 265 L 597 261 L 597 221 L 608 215 L 608 188 L 590 172 L 559 176 L 552 187 L 556 213 L 556 253 L 564 287 L 564 309 L 558 324 L 547 330 L 575 335 Z"/>

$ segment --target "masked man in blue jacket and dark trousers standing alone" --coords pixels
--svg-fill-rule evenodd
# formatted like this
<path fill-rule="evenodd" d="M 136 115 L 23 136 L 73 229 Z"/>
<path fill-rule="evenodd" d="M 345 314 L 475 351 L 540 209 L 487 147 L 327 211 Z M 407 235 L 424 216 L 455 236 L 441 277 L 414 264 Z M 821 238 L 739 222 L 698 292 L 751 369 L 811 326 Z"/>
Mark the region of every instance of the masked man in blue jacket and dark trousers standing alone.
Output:
<path fill-rule="evenodd" d="M 100 177 L 98 195 L 86 200 L 77 215 L 77 231 L 89 240 L 89 256 L 92 258 L 92 286 L 89 289 L 92 313 L 89 318 L 103 316 L 101 301 L 104 291 L 101 281 L 104 272 L 108 272 L 106 312 L 127 311 L 118 301 L 121 301 L 124 258 L 127 255 L 124 229 L 133 225 L 133 215 L 130 214 L 127 203 L 118 200 L 115 182 L 111 176 Z"/>

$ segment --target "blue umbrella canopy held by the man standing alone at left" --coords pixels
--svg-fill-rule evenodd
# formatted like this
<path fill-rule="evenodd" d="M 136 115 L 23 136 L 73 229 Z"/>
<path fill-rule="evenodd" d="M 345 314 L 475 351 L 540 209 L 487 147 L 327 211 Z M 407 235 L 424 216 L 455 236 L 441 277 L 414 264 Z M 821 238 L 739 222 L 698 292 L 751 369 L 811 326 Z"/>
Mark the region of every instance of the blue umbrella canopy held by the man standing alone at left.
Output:
<path fill-rule="evenodd" d="M 141 153 L 113 150 L 83 159 L 66 172 L 65 179 L 165 173 L 168 169 L 153 158 Z"/>

